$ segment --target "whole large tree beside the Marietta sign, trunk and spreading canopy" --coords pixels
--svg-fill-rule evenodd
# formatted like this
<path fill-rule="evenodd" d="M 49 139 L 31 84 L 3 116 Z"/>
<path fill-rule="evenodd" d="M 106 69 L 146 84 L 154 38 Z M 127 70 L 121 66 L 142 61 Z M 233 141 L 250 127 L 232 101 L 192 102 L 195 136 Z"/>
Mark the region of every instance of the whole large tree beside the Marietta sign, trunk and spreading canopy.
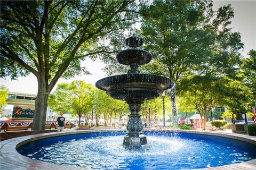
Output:
<path fill-rule="evenodd" d="M 130 25 L 133 7 L 133 1 L 1 1 L 1 77 L 36 76 L 34 130 L 45 127 L 58 79 L 89 73 L 81 66 L 85 57 L 110 53 L 104 43 Z"/>

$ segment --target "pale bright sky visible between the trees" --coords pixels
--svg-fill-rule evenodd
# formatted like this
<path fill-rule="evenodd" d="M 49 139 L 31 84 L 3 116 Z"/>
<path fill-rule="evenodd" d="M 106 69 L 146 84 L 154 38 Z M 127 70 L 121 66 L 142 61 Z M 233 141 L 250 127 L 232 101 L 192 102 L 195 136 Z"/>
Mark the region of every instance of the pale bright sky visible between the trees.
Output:
<path fill-rule="evenodd" d="M 242 55 L 248 57 L 250 49 L 256 49 L 256 1 L 213 1 L 213 10 L 220 6 L 231 4 L 234 8 L 235 16 L 231 20 L 233 31 L 241 33 L 241 39 L 244 43 Z M 102 71 L 105 64 L 100 60 L 91 61 L 87 59 L 83 63 L 91 75 L 82 75 L 73 79 L 59 79 L 57 84 L 71 82 L 74 80 L 84 80 L 87 83 L 95 84 L 96 81 L 105 78 L 107 75 Z M 37 94 L 37 79 L 35 75 L 30 74 L 27 77 L 20 77 L 18 80 L 11 80 L 9 77 L 0 79 L 1 86 L 5 86 L 9 91 L 21 92 L 25 94 Z M 52 92 L 57 88 L 53 88 Z"/>

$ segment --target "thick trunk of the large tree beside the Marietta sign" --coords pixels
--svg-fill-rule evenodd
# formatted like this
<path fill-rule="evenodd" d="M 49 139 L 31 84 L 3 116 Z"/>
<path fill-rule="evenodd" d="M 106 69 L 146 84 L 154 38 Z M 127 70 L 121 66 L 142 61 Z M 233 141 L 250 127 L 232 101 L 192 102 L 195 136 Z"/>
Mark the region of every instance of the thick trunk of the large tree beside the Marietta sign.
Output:
<path fill-rule="evenodd" d="M 46 81 L 38 79 L 38 92 L 35 101 L 35 113 L 32 130 L 44 130 L 47 112 L 47 101 L 49 98 L 49 90 L 46 88 Z"/>

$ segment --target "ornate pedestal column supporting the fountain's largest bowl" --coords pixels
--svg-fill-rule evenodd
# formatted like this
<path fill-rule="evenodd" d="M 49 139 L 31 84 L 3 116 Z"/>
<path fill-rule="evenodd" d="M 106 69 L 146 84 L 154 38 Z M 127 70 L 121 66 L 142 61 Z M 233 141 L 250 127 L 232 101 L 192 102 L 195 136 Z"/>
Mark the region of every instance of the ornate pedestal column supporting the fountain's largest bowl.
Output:
<path fill-rule="evenodd" d="M 140 147 L 141 145 L 147 145 L 147 138 L 142 134 L 143 124 L 140 118 L 141 101 L 127 101 L 131 115 L 129 115 L 129 122 L 126 129 L 128 133 L 124 137 L 123 145 Z"/>

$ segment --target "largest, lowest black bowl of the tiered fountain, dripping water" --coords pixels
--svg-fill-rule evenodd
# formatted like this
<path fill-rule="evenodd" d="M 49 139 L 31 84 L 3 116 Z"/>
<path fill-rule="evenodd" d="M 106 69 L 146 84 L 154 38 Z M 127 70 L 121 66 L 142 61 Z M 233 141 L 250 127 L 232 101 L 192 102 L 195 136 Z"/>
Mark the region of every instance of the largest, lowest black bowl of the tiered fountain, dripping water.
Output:
<path fill-rule="evenodd" d="M 171 88 L 171 79 L 152 74 L 121 74 L 100 79 L 95 86 L 110 97 L 125 101 L 154 99 Z"/>

